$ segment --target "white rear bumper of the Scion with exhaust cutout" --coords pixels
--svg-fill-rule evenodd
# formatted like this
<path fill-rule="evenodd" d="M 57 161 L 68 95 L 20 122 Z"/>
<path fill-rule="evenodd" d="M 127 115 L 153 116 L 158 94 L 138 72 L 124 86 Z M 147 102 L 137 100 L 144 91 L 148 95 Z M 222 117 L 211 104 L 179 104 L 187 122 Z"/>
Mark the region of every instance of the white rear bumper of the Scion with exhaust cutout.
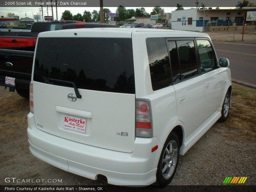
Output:
<path fill-rule="evenodd" d="M 28 114 L 28 140 L 31 153 L 49 164 L 92 180 L 104 175 L 108 183 L 125 186 L 154 183 L 163 148 L 156 137 L 136 138 L 132 153 L 85 145 L 37 129 L 33 113 Z"/>

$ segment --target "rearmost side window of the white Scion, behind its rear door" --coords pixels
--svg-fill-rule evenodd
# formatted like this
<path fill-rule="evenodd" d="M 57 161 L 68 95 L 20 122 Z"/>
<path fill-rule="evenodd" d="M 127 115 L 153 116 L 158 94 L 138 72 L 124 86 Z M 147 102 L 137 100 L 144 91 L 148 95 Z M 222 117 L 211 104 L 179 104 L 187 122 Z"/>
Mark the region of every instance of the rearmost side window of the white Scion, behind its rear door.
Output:
<path fill-rule="evenodd" d="M 172 84 L 169 55 L 165 38 L 146 39 L 152 89 L 158 90 Z"/>

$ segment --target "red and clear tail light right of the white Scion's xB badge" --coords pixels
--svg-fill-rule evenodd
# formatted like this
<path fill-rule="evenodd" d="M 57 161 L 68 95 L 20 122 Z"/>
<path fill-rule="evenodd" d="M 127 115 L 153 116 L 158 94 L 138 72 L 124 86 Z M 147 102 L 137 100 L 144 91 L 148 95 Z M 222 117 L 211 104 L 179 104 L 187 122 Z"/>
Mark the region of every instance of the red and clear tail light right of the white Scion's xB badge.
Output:
<path fill-rule="evenodd" d="M 150 102 L 148 100 L 136 99 L 135 136 L 153 137 Z"/>

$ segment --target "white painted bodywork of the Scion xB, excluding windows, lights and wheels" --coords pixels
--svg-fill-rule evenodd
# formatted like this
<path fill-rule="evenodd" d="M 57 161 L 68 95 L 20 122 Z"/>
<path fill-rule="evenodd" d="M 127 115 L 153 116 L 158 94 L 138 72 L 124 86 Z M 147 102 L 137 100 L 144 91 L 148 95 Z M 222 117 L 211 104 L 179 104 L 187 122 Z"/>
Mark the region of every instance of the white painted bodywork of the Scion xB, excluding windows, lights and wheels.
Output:
<path fill-rule="evenodd" d="M 68 94 L 75 94 L 72 86 L 35 81 L 40 39 L 48 37 L 131 39 L 135 94 L 78 88 L 82 98 L 72 102 L 67 98 Z M 146 39 L 156 37 L 198 37 L 211 42 L 210 37 L 203 33 L 138 28 L 71 29 L 40 33 L 31 79 L 30 100 L 34 104 L 31 106 L 32 112 L 28 114 L 31 153 L 60 169 L 92 180 L 104 175 L 108 183 L 114 185 L 154 183 L 160 154 L 170 132 L 180 127 L 180 155 L 184 155 L 220 118 L 225 94 L 231 89 L 230 69 L 219 67 L 153 91 Z M 53 60 L 57 65 L 57 59 Z M 149 138 L 135 136 L 137 99 L 145 100 L 151 106 L 152 136 Z M 74 117 L 74 121 L 75 117 L 80 118 L 80 122 L 86 119 L 86 132 L 64 129 L 67 115 Z M 151 152 L 156 145 L 158 149 Z"/>

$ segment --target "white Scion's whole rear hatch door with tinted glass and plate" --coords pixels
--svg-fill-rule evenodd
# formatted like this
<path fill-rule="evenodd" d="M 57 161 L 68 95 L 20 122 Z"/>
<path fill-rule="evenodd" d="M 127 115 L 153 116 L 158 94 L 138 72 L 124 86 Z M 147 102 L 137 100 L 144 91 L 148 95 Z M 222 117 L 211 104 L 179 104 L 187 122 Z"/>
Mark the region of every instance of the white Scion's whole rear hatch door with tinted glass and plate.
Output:
<path fill-rule="evenodd" d="M 70 30 L 68 30 L 70 31 Z M 48 34 L 54 37 L 47 37 Z M 78 32 L 77 32 L 78 33 Z M 38 129 L 76 142 L 132 152 L 135 86 L 131 36 L 47 32 L 33 75 Z M 40 34 L 41 35 L 41 34 Z M 73 82 L 81 95 L 76 98 Z"/>

